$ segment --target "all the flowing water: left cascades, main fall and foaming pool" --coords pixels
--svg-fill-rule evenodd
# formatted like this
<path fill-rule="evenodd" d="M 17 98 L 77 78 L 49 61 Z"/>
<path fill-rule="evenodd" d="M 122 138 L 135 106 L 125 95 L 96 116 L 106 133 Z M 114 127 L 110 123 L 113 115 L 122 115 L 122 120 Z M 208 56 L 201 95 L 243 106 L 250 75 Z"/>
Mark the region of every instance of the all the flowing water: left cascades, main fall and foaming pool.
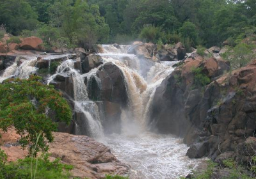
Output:
<path fill-rule="evenodd" d="M 99 54 L 104 63 L 111 62 L 118 66 L 125 79 L 128 105 L 122 109 L 121 134 L 104 134 L 100 102 L 93 102 L 88 97 L 90 82 L 96 81 L 101 88 L 101 81 L 97 72 L 103 65 L 93 68 L 86 74 L 75 69 L 76 59 L 63 60 L 56 69 L 56 74 L 48 77 L 50 84 L 57 75 L 66 74 L 70 77 L 74 91 L 74 111 L 79 118 L 76 134 L 95 137 L 112 149 L 112 152 L 132 167 L 131 179 L 162 179 L 186 176 L 195 168 L 200 160 L 186 157 L 188 147 L 182 144 L 182 139 L 172 135 L 154 134 L 148 131 L 150 107 L 161 84 L 174 68 L 172 62 L 154 63 L 150 60 L 139 59 L 133 54 L 127 54 L 129 45 L 102 45 L 104 53 Z M 56 58 L 56 56 L 55 56 Z M 26 79 L 35 72 L 36 56 L 27 57 L 21 65 L 17 65 L 17 58 L 12 66 L 6 68 L 0 77 L 0 82 L 12 76 Z M 51 64 L 52 56 L 44 56 Z M 84 83 L 86 79 L 86 84 Z M 115 94 L 114 94 L 115 95 Z"/>

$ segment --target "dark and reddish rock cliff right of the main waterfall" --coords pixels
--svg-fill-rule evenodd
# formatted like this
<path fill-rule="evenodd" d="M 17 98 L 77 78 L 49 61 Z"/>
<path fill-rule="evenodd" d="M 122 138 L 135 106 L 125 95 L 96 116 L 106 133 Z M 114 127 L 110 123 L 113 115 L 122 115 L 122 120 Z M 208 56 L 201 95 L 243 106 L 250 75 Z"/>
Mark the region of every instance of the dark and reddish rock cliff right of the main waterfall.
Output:
<path fill-rule="evenodd" d="M 211 79 L 194 86 L 193 68 Z M 151 120 L 159 132 L 184 137 L 191 158 L 234 152 L 256 132 L 256 61 L 228 73 L 221 58 L 187 59 L 157 88 Z M 223 74 L 223 75 L 222 75 Z"/>

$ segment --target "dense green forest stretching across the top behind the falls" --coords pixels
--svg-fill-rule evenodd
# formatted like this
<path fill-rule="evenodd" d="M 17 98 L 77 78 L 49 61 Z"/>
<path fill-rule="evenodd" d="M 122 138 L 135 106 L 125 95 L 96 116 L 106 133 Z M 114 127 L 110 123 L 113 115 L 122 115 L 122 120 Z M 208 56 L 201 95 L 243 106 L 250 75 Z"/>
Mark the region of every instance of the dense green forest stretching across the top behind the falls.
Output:
<path fill-rule="evenodd" d="M 13 35 L 36 35 L 45 46 L 182 41 L 220 45 L 255 33 L 254 0 L 3 0 L 0 24 Z M 3 34 L 3 33 L 2 33 Z M 1 34 L 0 34 L 1 35 Z"/>

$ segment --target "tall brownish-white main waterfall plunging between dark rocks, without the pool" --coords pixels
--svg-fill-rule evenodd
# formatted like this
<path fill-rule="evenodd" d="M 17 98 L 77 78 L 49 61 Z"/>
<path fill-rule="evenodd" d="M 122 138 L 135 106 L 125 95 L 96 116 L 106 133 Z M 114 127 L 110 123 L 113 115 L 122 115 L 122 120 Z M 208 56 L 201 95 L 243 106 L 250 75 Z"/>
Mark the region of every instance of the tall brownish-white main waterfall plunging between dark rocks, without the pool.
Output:
<path fill-rule="evenodd" d="M 153 63 L 140 59 L 134 54 L 127 54 L 129 45 L 121 45 L 117 49 L 114 45 L 102 45 L 104 54 L 102 56 L 105 62 L 111 61 L 120 70 L 125 78 L 127 95 L 129 98 L 128 109 L 122 111 L 123 130 L 125 127 L 131 128 L 129 123 L 139 125 L 138 130 L 145 130 L 148 125 L 148 113 L 157 86 L 163 79 L 172 73 L 175 63 Z M 150 69 L 148 71 L 145 71 Z"/>

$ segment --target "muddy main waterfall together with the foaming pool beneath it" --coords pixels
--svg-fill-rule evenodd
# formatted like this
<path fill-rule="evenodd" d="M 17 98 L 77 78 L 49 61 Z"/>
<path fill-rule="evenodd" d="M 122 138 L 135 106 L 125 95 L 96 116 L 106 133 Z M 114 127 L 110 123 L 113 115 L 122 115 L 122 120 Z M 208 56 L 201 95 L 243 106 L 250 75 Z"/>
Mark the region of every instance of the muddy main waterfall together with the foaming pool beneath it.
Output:
<path fill-rule="evenodd" d="M 188 175 L 200 160 L 186 157 L 188 147 L 182 139 L 147 130 L 156 88 L 173 72 L 175 63 L 144 63 L 125 54 L 129 48 L 125 45 L 118 50 L 113 45 L 102 47 L 105 53 L 100 56 L 104 61 L 111 61 L 124 74 L 129 107 L 122 111 L 122 134 L 105 135 L 98 140 L 109 146 L 119 160 L 131 165 L 131 179 L 174 179 Z M 143 77 L 145 68 L 150 70 Z"/>

